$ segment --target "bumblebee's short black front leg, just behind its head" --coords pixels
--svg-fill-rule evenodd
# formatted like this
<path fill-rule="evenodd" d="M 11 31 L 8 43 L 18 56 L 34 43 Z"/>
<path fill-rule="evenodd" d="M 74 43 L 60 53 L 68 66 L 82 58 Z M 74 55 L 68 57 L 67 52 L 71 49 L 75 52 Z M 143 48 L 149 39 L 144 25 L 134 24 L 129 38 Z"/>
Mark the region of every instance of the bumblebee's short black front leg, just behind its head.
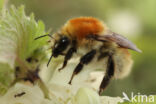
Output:
<path fill-rule="evenodd" d="M 68 50 L 67 54 L 65 55 L 63 66 L 59 69 L 59 71 L 61 71 L 67 65 L 68 60 L 71 59 L 74 52 L 76 52 L 75 47 L 72 47 Z"/>

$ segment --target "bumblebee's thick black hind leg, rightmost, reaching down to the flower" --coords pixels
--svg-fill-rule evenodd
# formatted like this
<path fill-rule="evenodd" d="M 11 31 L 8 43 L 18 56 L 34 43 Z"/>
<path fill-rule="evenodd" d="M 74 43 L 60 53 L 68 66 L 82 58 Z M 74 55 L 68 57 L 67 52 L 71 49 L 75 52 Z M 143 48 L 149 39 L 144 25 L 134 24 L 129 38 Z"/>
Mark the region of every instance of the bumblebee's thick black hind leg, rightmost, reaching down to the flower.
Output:
<path fill-rule="evenodd" d="M 102 94 L 102 92 L 104 91 L 104 89 L 107 87 L 107 85 L 109 84 L 111 78 L 114 75 L 114 71 L 115 71 L 115 65 L 114 65 L 114 60 L 112 58 L 111 55 L 108 56 L 108 62 L 107 62 L 107 69 L 106 69 L 106 73 L 105 76 L 101 82 L 100 88 L 99 88 L 99 94 Z"/>

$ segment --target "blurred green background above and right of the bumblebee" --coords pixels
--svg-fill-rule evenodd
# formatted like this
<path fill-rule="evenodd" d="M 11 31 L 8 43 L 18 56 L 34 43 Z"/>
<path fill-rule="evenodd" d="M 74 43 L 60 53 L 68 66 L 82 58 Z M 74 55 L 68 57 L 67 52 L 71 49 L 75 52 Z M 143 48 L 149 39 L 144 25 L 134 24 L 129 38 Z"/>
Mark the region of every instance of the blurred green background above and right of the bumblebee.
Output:
<path fill-rule="evenodd" d="M 104 95 L 122 96 L 156 94 L 156 0 L 10 0 L 10 4 L 25 5 L 26 13 L 34 12 L 46 28 L 57 31 L 68 19 L 93 16 L 108 27 L 125 35 L 143 51 L 131 52 L 134 65 L 130 75 L 113 80 Z M 9 6 L 8 5 L 8 6 Z"/>

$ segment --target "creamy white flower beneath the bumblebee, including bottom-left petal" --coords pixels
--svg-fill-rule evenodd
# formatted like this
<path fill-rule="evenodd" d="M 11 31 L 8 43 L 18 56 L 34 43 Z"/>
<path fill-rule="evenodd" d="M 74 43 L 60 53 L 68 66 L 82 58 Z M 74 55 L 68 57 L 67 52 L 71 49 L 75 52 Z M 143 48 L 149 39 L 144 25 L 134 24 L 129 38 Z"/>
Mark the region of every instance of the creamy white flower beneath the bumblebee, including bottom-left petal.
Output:
<path fill-rule="evenodd" d="M 10 88 L 4 96 L 0 97 L 0 102 L 3 102 L 2 104 L 117 104 L 123 101 L 119 97 L 98 95 L 97 86 L 100 85 L 103 72 L 92 72 L 89 69 L 84 69 L 73 80 L 73 84 L 69 85 L 68 81 L 77 61 L 71 60 L 61 72 L 57 70 L 62 65 L 60 63 L 62 63 L 62 58 L 53 59 L 50 67 L 42 67 L 43 71 L 40 73 L 49 90 L 50 99 L 44 98 L 43 90 L 38 84 L 32 85 L 25 82 L 17 83 Z M 47 76 L 48 74 L 50 75 Z M 23 95 L 17 96 L 22 92 L 24 92 Z"/>

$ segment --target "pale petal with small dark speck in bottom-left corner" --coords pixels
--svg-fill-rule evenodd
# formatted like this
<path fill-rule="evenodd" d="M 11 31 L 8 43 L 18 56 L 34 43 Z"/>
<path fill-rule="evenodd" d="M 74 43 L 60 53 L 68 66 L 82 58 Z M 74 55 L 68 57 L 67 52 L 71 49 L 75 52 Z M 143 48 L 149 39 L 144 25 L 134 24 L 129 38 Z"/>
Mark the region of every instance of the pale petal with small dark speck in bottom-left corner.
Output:
<path fill-rule="evenodd" d="M 20 83 L 10 88 L 0 98 L 2 104 L 41 104 L 43 100 L 44 95 L 38 86 L 29 86 Z"/>

